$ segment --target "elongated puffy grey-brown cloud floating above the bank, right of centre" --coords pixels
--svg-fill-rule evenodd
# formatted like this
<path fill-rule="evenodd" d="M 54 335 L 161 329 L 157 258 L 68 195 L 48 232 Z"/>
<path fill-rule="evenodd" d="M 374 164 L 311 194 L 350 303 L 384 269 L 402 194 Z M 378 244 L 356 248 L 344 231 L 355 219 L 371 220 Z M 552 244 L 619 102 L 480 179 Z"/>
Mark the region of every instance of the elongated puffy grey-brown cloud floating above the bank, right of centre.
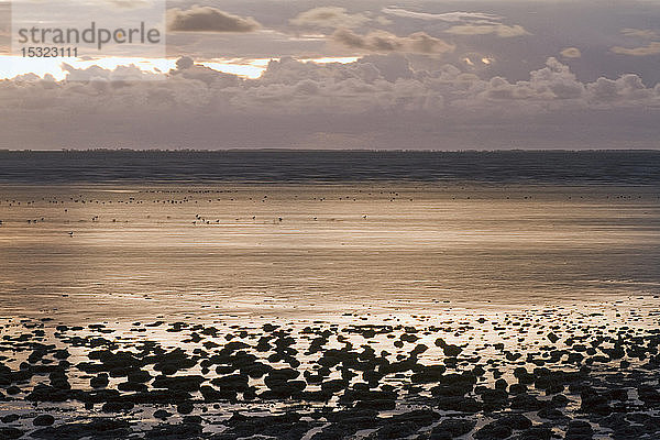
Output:
<path fill-rule="evenodd" d="M 453 52 L 455 46 L 436 38 L 425 32 L 416 32 L 408 36 L 397 36 L 386 31 L 372 31 L 359 35 L 346 29 L 339 29 L 332 40 L 345 47 L 367 52 L 403 52 L 417 54 L 443 54 Z"/>

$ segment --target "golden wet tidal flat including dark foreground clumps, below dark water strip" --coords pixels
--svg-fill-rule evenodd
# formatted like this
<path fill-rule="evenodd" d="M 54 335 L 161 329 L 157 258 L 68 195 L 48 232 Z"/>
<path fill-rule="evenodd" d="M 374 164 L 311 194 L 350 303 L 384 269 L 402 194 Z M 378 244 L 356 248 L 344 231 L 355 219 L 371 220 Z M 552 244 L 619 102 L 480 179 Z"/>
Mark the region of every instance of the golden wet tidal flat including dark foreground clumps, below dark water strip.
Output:
<path fill-rule="evenodd" d="M 658 197 L 2 186 L 0 438 L 660 438 Z"/>

